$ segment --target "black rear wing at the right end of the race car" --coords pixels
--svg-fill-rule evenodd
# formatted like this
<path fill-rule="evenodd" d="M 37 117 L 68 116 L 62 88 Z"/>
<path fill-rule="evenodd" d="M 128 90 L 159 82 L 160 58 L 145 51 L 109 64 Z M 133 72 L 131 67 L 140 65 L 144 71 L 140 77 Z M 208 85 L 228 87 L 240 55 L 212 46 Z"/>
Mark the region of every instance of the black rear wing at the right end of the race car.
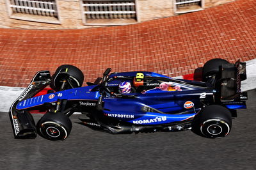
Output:
<path fill-rule="evenodd" d="M 225 64 L 221 68 L 221 101 L 247 100 L 247 93 L 241 92 L 241 81 L 246 79 L 246 63 Z"/>

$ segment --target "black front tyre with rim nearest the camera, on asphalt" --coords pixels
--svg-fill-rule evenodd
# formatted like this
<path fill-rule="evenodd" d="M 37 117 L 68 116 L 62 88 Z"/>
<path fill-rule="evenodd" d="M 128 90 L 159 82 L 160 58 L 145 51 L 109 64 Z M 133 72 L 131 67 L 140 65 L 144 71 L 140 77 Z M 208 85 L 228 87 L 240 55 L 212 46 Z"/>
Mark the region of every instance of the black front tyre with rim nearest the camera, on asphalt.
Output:
<path fill-rule="evenodd" d="M 72 129 L 70 119 L 61 112 L 47 112 L 36 125 L 37 132 L 45 139 L 61 141 L 67 139 Z"/>

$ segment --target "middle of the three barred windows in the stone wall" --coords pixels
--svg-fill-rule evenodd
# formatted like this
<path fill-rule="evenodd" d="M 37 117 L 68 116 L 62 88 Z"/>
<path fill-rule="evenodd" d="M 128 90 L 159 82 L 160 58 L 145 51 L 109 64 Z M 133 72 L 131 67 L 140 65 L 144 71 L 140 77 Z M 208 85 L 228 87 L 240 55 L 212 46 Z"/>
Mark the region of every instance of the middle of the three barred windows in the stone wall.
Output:
<path fill-rule="evenodd" d="M 81 1 L 83 22 L 88 25 L 120 25 L 137 22 L 136 0 Z"/>

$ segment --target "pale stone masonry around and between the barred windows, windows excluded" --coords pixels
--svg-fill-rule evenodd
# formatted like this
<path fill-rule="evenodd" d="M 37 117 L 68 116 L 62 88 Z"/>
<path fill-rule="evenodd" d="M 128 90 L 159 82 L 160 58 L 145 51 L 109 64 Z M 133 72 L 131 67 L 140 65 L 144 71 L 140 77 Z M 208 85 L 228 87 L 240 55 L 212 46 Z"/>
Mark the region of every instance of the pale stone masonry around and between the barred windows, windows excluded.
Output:
<path fill-rule="evenodd" d="M 235 0 L 204 1 L 205 8 L 209 8 Z M 57 5 L 60 24 L 48 24 L 44 22 L 11 19 L 8 14 L 6 0 L 0 0 L 0 27 L 16 29 L 81 29 L 99 27 L 85 26 L 83 24 L 80 0 L 57 0 Z M 175 15 L 173 13 L 173 0 L 136 0 L 136 5 L 138 10 L 138 22 Z"/>

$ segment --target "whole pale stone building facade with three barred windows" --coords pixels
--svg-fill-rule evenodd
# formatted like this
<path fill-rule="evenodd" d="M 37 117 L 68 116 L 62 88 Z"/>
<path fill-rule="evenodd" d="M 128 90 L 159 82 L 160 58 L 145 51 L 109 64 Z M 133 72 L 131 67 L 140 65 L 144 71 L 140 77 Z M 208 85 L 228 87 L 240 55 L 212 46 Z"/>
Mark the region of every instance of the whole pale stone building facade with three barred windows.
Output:
<path fill-rule="evenodd" d="M 136 24 L 235 0 L 0 0 L 0 27 L 81 29 Z"/>

